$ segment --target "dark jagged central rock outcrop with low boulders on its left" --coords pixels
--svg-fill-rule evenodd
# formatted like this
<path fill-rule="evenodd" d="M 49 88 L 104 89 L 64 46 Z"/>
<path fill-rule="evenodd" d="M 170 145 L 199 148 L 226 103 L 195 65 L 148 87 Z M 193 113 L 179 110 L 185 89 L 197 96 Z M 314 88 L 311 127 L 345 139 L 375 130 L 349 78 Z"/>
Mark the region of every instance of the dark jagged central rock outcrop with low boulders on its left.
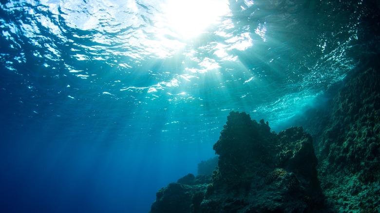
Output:
<path fill-rule="evenodd" d="M 312 144 L 302 127 L 276 134 L 264 120 L 232 111 L 213 147 L 219 160 L 211 181 L 184 181 L 192 178 L 187 175 L 169 184 L 157 193 L 151 212 L 320 212 Z"/>

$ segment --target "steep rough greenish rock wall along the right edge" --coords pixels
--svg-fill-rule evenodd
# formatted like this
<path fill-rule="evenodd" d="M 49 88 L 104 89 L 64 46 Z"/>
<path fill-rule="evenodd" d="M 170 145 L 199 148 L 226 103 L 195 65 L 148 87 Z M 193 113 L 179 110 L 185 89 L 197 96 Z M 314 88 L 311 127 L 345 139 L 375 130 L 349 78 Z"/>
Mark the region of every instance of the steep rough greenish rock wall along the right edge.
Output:
<path fill-rule="evenodd" d="M 336 211 L 380 212 L 380 70 L 356 73 L 332 101 L 316 143 L 326 202 Z"/>

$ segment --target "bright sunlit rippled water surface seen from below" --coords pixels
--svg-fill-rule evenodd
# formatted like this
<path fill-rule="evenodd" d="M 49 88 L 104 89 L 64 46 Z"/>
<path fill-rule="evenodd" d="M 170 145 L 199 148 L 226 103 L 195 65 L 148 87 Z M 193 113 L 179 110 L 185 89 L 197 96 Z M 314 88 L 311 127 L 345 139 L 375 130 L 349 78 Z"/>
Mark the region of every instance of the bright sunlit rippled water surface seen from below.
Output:
<path fill-rule="evenodd" d="M 316 21 L 308 12 L 329 8 L 265 0 L 10 1 L 2 9 L 23 17 L 0 19 L 2 36 L 17 50 L 2 56 L 9 71 L 24 74 L 17 65 L 35 58 L 46 70 L 41 76 L 57 85 L 69 79 L 60 88 L 66 98 L 91 94 L 137 106 L 148 99 L 173 103 L 169 94 L 186 92 L 178 98 L 184 104 L 195 97 L 213 110 L 220 102 L 279 120 L 356 65 L 346 54 L 357 47 L 360 15 L 342 10 Z M 352 21 L 323 25 L 347 14 Z M 30 51 L 18 52 L 25 44 Z"/>

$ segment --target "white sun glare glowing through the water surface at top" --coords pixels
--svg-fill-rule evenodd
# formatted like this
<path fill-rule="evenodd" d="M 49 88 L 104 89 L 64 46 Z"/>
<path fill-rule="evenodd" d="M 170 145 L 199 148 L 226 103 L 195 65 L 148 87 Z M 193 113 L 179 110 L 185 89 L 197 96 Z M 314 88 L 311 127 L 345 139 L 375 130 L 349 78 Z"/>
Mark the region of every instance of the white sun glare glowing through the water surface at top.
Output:
<path fill-rule="evenodd" d="M 227 0 L 167 0 L 163 5 L 168 27 L 184 38 L 201 34 L 228 12 Z"/>

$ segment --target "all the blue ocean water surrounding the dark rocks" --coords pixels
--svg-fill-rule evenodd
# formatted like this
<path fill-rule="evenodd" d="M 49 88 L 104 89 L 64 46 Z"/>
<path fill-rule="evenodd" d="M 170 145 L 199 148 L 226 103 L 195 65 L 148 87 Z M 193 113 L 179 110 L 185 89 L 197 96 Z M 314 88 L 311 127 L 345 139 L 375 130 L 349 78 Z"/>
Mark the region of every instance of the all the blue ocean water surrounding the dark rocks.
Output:
<path fill-rule="evenodd" d="M 149 212 L 230 111 L 281 131 L 380 50 L 378 0 L 0 2 L 1 212 Z"/>

